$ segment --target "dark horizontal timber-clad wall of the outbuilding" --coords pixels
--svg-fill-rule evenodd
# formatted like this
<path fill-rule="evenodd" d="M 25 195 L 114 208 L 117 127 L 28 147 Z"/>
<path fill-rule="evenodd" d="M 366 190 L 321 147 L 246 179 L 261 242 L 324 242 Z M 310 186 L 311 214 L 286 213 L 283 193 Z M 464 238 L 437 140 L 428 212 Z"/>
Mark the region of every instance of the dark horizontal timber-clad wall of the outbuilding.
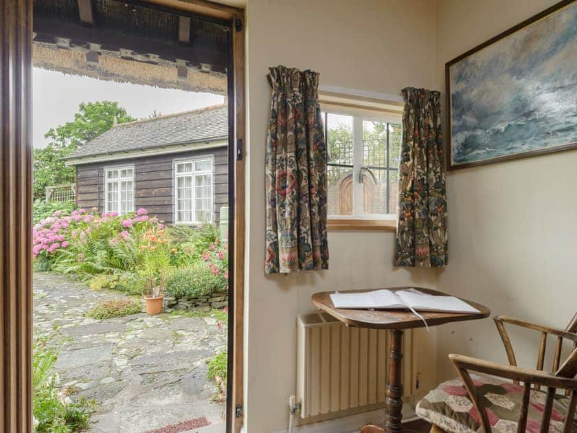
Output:
<path fill-rule="evenodd" d="M 76 201 L 81 208 L 98 208 L 104 212 L 104 169 L 134 166 L 135 210 L 145 208 L 166 223 L 174 222 L 174 170 L 176 159 L 212 157 L 213 221 L 220 220 L 220 207 L 228 204 L 227 146 L 196 151 L 155 155 L 117 161 L 96 162 L 76 166 Z"/>

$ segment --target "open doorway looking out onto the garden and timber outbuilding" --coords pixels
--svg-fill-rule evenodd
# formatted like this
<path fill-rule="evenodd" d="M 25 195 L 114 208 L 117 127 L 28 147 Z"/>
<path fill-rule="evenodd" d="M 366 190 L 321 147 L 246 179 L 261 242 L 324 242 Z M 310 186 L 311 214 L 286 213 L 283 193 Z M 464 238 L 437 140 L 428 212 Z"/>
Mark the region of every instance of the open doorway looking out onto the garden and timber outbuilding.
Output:
<path fill-rule="evenodd" d="M 231 32 L 143 3 L 34 2 L 38 431 L 231 425 Z"/>

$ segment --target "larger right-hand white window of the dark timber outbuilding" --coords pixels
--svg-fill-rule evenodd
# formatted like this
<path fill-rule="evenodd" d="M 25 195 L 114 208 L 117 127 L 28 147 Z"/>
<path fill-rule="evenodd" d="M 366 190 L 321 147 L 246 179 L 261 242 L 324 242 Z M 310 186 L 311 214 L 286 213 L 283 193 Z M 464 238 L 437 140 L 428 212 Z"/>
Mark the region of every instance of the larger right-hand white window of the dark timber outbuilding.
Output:
<path fill-rule="evenodd" d="M 212 159 L 174 162 L 174 221 L 212 222 Z"/>

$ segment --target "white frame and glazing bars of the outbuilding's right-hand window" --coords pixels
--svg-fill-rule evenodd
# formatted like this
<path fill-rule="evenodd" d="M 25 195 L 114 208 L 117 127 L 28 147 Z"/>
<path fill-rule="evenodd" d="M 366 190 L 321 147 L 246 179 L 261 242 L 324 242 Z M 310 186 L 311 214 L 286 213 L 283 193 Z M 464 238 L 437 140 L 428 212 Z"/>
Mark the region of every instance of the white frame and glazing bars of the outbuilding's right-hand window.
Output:
<path fill-rule="evenodd" d="M 196 162 L 210 161 L 210 170 L 196 171 Z M 178 173 L 178 166 L 180 164 L 192 164 L 193 170 L 189 173 Z M 203 223 L 212 223 L 214 221 L 214 155 L 203 155 L 188 158 L 178 158 L 172 160 L 172 197 L 174 197 L 174 203 L 172 205 L 174 223 L 175 224 L 185 224 L 185 225 L 199 225 Z M 178 178 L 179 177 L 192 177 L 192 217 L 196 220 L 196 190 L 194 178 L 196 176 L 210 175 L 210 219 L 208 221 L 179 221 L 179 200 L 177 195 L 178 189 Z"/>

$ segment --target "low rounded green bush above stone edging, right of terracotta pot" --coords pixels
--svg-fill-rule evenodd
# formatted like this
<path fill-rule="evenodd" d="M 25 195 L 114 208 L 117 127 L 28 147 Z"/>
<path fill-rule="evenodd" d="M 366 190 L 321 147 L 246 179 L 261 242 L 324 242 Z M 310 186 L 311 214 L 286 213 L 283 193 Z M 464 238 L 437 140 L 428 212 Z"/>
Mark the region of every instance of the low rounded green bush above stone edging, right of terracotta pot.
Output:
<path fill-rule="evenodd" d="M 166 293 L 177 298 L 200 298 L 225 291 L 227 280 L 215 275 L 204 263 L 178 269 L 166 278 Z"/>

